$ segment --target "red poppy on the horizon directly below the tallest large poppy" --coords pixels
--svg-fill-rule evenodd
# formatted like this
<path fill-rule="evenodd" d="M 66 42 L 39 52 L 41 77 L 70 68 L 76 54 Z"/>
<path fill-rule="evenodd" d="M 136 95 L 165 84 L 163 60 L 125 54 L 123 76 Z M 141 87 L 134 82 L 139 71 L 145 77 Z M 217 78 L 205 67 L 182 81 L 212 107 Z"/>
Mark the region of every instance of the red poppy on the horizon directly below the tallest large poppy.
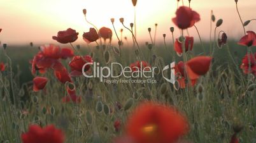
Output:
<path fill-rule="evenodd" d="M 194 37 L 185 37 L 185 52 L 187 51 L 191 51 L 193 49 L 193 45 L 194 45 Z M 181 56 L 183 53 L 182 50 L 182 43 L 179 42 L 178 39 L 176 39 L 175 43 L 174 43 L 174 50 L 176 51 L 176 53 Z"/>

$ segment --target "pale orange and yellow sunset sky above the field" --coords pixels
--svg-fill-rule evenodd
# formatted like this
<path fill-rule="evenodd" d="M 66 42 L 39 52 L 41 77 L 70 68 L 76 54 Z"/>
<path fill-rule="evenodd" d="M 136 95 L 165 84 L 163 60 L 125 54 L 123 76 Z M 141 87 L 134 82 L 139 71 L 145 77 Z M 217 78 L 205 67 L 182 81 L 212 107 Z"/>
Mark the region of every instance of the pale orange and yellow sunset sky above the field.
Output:
<path fill-rule="evenodd" d="M 184 2 L 188 5 L 187 0 Z M 169 27 L 174 26 L 171 18 L 175 16 L 176 4 L 176 0 L 138 0 L 136 6 L 138 40 L 150 41 L 147 28 L 152 27 L 154 30 L 154 24 L 158 23 L 157 41 L 162 42 L 162 34 L 166 33 L 167 42 L 171 42 Z M 229 37 L 235 39 L 239 39 L 243 34 L 234 0 L 192 0 L 191 7 L 201 15 L 201 21 L 196 25 L 204 40 L 209 39 L 211 9 L 217 19 L 224 19 L 220 30 L 225 30 Z M 118 20 L 120 17 L 124 17 L 127 26 L 134 18 L 131 0 L 1 0 L 0 28 L 3 28 L 0 34 L 1 43 L 55 43 L 52 36 L 57 35 L 59 30 L 66 30 L 69 27 L 80 33 L 76 42 L 83 43 L 82 34 L 91 27 L 85 22 L 83 8 L 87 9 L 87 19 L 99 28 L 103 26 L 112 28 L 110 18 L 115 18 L 115 26 L 119 30 L 123 28 Z M 239 0 L 239 10 L 244 21 L 256 18 L 255 9 L 255 0 Z M 250 23 L 246 30 L 256 31 L 256 22 Z M 189 32 L 197 39 L 193 27 Z M 177 37 L 178 34 L 176 30 Z M 131 40 L 131 34 L 127 31 L 124 35 Z M 113 39 L 116 39 L 115 35 Z"/>

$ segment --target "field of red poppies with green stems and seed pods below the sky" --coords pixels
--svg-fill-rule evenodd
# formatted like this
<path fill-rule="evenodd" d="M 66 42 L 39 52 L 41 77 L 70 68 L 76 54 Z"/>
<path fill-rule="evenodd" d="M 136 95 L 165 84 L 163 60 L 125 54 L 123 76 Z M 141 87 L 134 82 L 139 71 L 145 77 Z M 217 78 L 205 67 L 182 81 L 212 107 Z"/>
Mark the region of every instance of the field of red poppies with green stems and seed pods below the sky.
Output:
<path fill-rule="evenodd" d="M 155 44 L 157 24 L 146 44 L 136 38 L 135 20 L 111 18 L 113 27 L 98 29 L 86 9 L 92 28 L 60 30 L 52 37 L 59 45 L 1 41 L 0 143 L 256 142 L 256 34 L 246 29 L 255 19 L 243 21 L 235 0 L 231 13 L 238 13 L 244 35 L 230 40 L 225 20 L 212 14 L 212 37 L 204 42 L 200 14 L 188 1 L 177 1 L 166 32 L 180 34 L 172 45 L 166 34 Z M 116 30 L 117 22 L 124 29 Z M 85 44 L 75 44 L 78 38 Z"/>

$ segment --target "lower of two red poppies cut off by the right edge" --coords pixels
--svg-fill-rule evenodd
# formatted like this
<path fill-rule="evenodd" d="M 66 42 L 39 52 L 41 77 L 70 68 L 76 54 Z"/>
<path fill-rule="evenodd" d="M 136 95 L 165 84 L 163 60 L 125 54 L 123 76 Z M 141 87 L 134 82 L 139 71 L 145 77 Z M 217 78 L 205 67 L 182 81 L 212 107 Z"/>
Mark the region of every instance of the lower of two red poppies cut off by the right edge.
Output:
<path fill-rule="evenodd" d="M 243 72 L 245 74 L 252 73 L 253 75 L 256 75 L 256 53 L 254 55 L 250 54 L 250 57 L 249 57 L 250 58 L 250 64 L 249 64 L 249 61 L 248 61 L 248 56 L 249 56 L 248 54 L 245 55 L 240 68 L 243 70 Z M 251 67 L 250 71 L 249 71 L 249 66 Z"/>

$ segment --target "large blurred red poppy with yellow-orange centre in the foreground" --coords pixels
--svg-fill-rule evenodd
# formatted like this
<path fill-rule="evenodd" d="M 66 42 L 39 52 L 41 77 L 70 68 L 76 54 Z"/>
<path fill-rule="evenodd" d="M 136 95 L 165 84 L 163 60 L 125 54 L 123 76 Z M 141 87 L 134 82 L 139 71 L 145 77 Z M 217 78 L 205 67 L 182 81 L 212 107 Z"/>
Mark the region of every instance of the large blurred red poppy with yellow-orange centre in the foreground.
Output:
<path fill-rule="evenodd" d="M 188 132 L 185 118 L 169 106 L 143 103 L 127 121 L 126 133 L 139 143 L 173 143 Z"/>

